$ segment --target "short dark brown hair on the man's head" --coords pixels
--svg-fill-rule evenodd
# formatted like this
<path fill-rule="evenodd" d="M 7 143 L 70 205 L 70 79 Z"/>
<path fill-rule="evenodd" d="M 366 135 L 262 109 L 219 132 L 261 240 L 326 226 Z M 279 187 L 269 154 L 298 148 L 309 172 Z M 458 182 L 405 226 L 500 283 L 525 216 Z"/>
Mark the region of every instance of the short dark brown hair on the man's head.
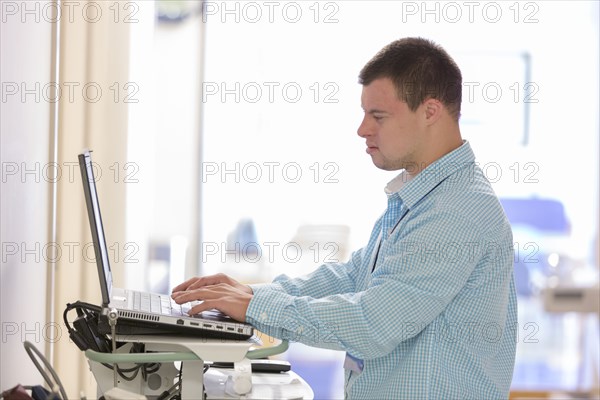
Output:
<path fill-rule="evenodd" d="M 452 57 L 432 41 L 403 38 L 385 46 L 360 71 L 359 83 L 368 85 L 380 78 L 392 80 L 398 98 L 410 110 L 433 98 L 458 121 L 462 75 Z"/>

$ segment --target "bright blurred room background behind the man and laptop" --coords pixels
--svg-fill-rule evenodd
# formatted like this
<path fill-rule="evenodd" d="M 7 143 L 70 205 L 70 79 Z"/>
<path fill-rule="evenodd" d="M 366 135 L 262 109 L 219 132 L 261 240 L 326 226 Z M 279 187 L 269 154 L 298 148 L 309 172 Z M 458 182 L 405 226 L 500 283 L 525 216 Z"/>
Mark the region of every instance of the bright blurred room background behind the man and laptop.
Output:
<path fill-rule="evenodd" d="M 345 261 L 395 175 L 356 134 L 358 72 L 422 36 L 461 67 L 463 137 L 513 226 L 512 396 L 597 393 L 597 1 L 0 6 L 0 389 L 40 381 L 29 340 L 71 396 L 95 396 L 61 319 L 66 303 L 100 298 L 82 149 L 118 286 L 168 292 L 215 272 L 264 282 Z M 292 344 L 281 357 L 316 398 L 343 398 L 342 353 Z"/>

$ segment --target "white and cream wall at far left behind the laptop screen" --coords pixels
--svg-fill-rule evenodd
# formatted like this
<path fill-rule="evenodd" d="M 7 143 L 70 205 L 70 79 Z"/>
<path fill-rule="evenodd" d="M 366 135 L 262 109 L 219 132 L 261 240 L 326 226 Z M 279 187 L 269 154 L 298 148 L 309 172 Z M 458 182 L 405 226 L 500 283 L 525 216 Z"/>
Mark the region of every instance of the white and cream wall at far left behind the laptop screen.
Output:
<path fill-rule="evenodd" d="M 122 168 L 131 94 L 132 21 L 126 7 L 0 0 L 2 390 L 43 383 L 23 349 L 29 340 L 46 353 L 69 398 L 96 395 L 85 356 L 69 340 L 62 312 L 76 300 L 100 303 L 96 266 L 84 251 L 91 238 L 77 168 L 83 148 L 95 150 L 94 161 L 103 173 L 98 187 L 118 282 L 123 253 L 130 248 L 124 222 L 127 171 Z M 53 36 L 57 21 L 60 37 Z M 59 71 L 53 68 L 56 58 Z M 52 90 L 57 87 L 60 94 Z M 57 170 L 61 175 L 55 177 Z"/>

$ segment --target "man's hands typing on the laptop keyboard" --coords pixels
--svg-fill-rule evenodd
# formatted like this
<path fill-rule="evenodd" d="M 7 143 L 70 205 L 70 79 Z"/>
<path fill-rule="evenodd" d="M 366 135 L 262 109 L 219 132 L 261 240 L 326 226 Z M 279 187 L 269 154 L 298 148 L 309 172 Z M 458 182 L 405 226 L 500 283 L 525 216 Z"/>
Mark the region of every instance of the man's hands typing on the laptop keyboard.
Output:
<path fill-rule="evenodd" d="M 176 286 L 171 297 L 177 304 L 203 301 L 192 307 L 190 315 L 216 308 L 233 319 L 245 322 L 252 289 L 225 274 L 217 274 L 189 279 Z"/>

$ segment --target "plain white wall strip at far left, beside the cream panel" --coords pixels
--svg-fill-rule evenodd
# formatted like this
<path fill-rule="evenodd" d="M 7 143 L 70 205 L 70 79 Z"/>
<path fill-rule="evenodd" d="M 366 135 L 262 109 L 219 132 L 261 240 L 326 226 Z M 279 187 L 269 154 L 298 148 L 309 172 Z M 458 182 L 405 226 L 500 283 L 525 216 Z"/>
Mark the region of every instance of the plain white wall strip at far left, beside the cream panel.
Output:
<path fill-rule="evenodd" d="M 52 104 L 42 91 L 51 81 L 52 25 L 34 15 L 23 22 L 8 14 L 8 3 L 0 2 L 0 390 L 42 383 L 23 341 L 44 352 L 55 328 L 46 318 Z M 23 97 L 22 89 L 31 92 Z"/>

